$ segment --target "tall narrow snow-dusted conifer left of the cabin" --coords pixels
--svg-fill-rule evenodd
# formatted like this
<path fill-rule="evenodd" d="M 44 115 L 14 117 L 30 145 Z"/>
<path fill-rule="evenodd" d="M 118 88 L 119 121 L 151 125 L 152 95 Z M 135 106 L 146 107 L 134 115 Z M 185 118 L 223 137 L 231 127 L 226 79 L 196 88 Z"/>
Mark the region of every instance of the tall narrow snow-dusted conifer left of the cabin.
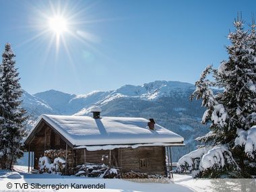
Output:
<path fill-rule="evenodd" d="M 23 155 L 21 144 L 25 136 L 26 111 L 21 107 L 22 89 L 14 57 L 11 44 L 5 44 L 0 65 L 0 166 L 2 169 L 11 169 L 17 158 Z"/>

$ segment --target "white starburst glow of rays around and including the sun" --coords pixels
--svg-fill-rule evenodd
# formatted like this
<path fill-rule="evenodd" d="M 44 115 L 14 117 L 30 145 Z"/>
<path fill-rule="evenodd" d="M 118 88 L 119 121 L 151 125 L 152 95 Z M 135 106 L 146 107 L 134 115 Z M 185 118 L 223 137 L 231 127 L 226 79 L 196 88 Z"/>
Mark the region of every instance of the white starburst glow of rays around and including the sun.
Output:
<path fill-rule="evenodd" d="M 94 16 L 88 15 L 94 4 L 82 8 L 79 3 L 68 3 L 68 1 L 49 1 L 44 5 L 30 5 L 31 11 L 35 14 L 30 18 L 26 28 L 34 33 L 34 36 L 25 39 L 24 44 L 38 44 L 43 40 L 46 42 L 44 60 L 50 51 L 55 50 L 55 59 L 59 57 L 59 50 L 63 49 L 68 60 L 72 61 L 71 44 L 84 44 L 88 49 L 100 52 L 96 44 L 100 44 L 101 39 L 96 34 L 85 30 L 86 24 L 94 24 Z M 86 17 L 88 15 L 88 17 Z M 88 19 L 90 18 L 90 19 Z M 102 20 L 104 22 L 104 20 Z M 41 45 L 42 46 L 42 45 Z M 72 63 L 72 62 L 71 62 Z"/>

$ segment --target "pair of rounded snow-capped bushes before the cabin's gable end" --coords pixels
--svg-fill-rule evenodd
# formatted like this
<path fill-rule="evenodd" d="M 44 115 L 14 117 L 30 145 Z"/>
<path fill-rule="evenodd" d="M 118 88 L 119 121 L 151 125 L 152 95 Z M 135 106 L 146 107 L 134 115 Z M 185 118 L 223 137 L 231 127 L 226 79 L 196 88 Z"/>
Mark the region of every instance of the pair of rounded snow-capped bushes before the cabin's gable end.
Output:
<path fill-rule="evenodd" d="M 40 173 L 47 172 L 51 174 L 63 174 L 65 169 L 65 160 L 63 158 L 55 158 L 53 163 L 50 158 L 43 156 L 39 158 L 38 170 Z"/>

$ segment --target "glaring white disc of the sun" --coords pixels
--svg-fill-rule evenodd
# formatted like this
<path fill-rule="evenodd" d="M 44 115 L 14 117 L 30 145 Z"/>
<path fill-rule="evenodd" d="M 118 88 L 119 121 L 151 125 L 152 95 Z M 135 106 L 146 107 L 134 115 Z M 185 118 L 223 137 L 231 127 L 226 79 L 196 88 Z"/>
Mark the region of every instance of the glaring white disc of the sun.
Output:
<path fill-rule="evenodd" d="M 49 19 L 49 27 L 57 34 L 57 36 L 59 36 L 67 31 L 67 21 L 65 18 L 57 15 Z"/>

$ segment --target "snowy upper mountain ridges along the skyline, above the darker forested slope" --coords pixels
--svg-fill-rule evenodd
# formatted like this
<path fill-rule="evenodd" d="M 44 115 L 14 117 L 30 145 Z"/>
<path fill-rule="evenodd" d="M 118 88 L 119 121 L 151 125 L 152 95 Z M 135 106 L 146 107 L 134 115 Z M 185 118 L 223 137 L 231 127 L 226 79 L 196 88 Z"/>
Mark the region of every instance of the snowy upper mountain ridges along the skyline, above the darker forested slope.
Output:
<path fill-rule="evenodd" d="M 103 106 L 121 98 L 158 100 L 158 98 L 166 96 L 187 95 L 187 92 L 191 92 L 191 89 L 194 89 L 192 84 L 155 81 L 143 84 L 142 86 L 125 85 L 117 90 L 108 92 L 94 91 L 88 94 L 79 95 L 68 94 L 57 90 L 39 92 L 34 94 L 34 96 L 26 93 L 24 94 L 24 102 L 28 106 L 36 106 L 40 108 L 40 110 L 38 110 L 39 113 L 85 115 L 88 114 L 88 108 L 91 106 Z M 33 109 L 33 111 L 34 110 L 35 109 Z"/>

